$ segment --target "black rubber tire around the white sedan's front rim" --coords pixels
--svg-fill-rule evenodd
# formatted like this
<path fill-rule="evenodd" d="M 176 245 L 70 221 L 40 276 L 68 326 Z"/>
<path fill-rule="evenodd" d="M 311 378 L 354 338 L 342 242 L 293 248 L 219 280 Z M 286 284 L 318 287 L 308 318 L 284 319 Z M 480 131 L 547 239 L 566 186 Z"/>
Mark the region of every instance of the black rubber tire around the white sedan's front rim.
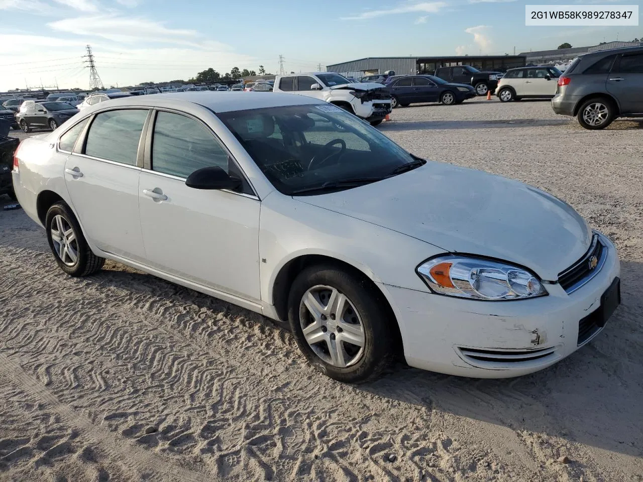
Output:
<path fill-rule="evenodd" d="M 309 289 L 318 285 L 332 287 L 344 294 L 361 319 L 365 338 L 363 351 L 354 364 L 345 368 L 321 359 L 303 335 L 301 319 L 302 313 L 307 311 L 306 308 L 300 311 L 302 298 Z M 288 298 L 288 321 L 303 355 L 316 370 L 345 383 L 361 383 L 376 379 L 394 359 L 394 335 L 390 324 L 395 321 L 390 318 L 389 313 L 390 308 L 381 292 L 372 287 L 361 273 L 347 271 L 332 264 L 311 266 L 300 272 L 293 282 Z M 331 333 L 329 336 L 334 339 L 335 335 Z M 330 349 L 327 343 L 320 344 Z"/>

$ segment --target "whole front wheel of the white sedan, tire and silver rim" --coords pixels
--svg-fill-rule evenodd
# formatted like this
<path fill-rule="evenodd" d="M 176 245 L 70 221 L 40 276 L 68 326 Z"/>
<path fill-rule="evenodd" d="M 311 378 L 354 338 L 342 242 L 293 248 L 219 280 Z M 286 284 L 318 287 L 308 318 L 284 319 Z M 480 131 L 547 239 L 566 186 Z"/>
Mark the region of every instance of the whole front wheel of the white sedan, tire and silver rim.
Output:
<path fill-rule="evenodd" d="M 293 282 L 288 320 L 306 359 L 340 382 L 376 378 L 394 356 L 383 296 L 334 265 L 304 269 Z"/>

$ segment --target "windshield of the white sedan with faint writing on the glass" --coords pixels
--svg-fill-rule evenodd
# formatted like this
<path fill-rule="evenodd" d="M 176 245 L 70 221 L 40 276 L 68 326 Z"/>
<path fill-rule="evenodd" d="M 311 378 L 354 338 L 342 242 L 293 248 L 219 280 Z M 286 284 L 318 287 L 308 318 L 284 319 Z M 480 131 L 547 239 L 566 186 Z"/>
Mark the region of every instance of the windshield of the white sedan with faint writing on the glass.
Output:
<path fill-rule="evenodd" d="M 217 116 L 273 186 L 287 195 L 302 190 L 319 194 L 314 190 L 342 181 L 377 181 L 414 161 L 384 134 L 334 105 L 290 105 Z"/>

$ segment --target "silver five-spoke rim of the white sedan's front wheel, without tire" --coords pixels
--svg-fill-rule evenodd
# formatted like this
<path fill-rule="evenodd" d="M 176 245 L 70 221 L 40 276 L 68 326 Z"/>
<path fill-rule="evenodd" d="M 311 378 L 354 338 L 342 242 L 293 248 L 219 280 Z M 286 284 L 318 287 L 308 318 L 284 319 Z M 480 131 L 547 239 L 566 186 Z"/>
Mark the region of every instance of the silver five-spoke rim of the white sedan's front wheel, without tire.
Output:
<path fill-rule="evenodd" d="M 303 337 L 320 359 L 338 368 L 361 359 L 365 330 L 345 294 L 330 286 L 316 285 L 303 294 L 299 312 Z"/>

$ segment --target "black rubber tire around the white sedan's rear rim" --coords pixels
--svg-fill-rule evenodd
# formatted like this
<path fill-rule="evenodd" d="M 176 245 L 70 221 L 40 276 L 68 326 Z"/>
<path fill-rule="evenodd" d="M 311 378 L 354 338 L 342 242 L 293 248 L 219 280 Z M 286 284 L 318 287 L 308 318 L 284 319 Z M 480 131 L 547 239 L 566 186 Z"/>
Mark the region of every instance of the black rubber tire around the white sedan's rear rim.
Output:
<path fill-rule="evenodd" d="M 51 228 L 55 218 L 57 216 L 62 216 L 62 218 L 67 222 L 68 226 L 73 229 L 73 234 L 75 235 L 75 249 L 77 252 L 77 260 L 73 265 L 66 264 L 57 253 L 57 249 L 54 246 L 53 239 L 51 237 Z M 67 205 L 66 202 L 61 201 L 53 204 L 51 208 L 47 211 L 47 216 L 45 220 L 45 229 L 47 231 L 47 241 L 49 242 L 49 247 L 53 253 L 53 257 L 60 266 L 62 271 L 69 274 L 69 276 L 88 276 L 89 274 L 94 274 L 96 271 L 100 271 L 105 263 L 105 258 L 100 258 L 96 256 L 87 241 L 83 236 L 82 230 L 78 221 Z"/>

